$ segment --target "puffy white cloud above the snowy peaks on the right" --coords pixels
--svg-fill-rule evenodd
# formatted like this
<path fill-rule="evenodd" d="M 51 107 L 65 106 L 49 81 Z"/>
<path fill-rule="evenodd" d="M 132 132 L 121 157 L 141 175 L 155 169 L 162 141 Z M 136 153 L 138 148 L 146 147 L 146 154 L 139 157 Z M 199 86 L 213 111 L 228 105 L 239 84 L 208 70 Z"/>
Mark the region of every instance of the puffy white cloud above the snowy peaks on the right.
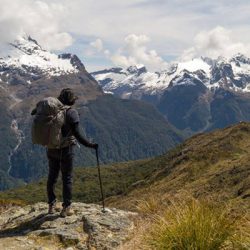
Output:
<path fill-rule="evenodd" d="M 194 39 L 194 46 L 185 50 L 181 59 L 189 60 L 198 56 L 231 57 L 237 53 L 250 55 L 250 44 L 236 42 L 233 37 L 232 31 L 221 26 L 200 32 Z"/>

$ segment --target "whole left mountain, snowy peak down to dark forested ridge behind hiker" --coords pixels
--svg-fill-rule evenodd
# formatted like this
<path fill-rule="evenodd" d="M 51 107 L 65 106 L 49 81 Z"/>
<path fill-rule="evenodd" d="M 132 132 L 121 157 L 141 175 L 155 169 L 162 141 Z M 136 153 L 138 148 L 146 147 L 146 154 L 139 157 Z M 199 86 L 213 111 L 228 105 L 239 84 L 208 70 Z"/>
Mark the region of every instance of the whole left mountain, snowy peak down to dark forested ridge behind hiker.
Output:
<path fill-rule="evenodd" d="M 31 110 L 61 89 L 74 89 L 75 106 L 102 162 L 161 154 L 183 140 L 150 104 L 106 95 L 76 55 L 56 55 L 31 37 L 9 43 L 0 58 L 0 190 L 47 173 L 46 151 L 31 143 Z M 76 151 L 76 165 L 95 164 L 90 149 Z"/>

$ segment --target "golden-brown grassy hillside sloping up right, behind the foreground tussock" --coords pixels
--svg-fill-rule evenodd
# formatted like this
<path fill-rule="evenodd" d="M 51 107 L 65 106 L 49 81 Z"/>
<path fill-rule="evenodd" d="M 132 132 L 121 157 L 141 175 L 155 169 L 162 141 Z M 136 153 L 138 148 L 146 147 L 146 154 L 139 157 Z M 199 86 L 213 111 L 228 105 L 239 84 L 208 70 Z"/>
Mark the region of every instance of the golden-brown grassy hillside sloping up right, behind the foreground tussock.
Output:
<path fill-rule="evenodd" d="M 198 199 L 233 201 L 250 208 L 250 123 L 199 134 L 169 154 L 153 159 L 157 171 L 126 196 L 110 199 L 119 207 L 133 206 L 148 195 L 191 194 Z M 240 209 L 240 207 L 238 207 Z"/>

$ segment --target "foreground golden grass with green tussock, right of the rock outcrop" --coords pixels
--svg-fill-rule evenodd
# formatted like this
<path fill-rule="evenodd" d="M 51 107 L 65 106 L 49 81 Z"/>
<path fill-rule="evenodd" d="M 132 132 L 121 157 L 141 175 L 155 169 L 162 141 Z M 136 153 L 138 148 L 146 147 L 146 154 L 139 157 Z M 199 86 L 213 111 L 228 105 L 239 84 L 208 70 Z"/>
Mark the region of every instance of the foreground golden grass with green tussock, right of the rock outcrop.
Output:
<path fill-rule="evenodd" d="M 194 199 L 188 192 L 148 194 L 137 200 L 140 218 L 122 250 L 247 250 L 250 222 L 247 209 Z"/>

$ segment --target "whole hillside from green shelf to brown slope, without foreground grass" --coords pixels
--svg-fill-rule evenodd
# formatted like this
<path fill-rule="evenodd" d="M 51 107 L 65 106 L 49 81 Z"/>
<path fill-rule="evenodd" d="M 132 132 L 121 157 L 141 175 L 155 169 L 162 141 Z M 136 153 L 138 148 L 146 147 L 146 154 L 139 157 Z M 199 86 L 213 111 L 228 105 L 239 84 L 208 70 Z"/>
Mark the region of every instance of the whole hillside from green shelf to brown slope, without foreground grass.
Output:
<path fill-rule="evenodd" d="M 250 123 L 199 134 L 169 153 L 152 159 L 102 166 L 110 205 L 134 209 L 138 200 L 188 192 L 250 205 Z M 114 196 L 116 195 L 116 196 Z M 0 193 L 1 199 L 44 201 L 45 180 Z M 96 168 L 75 171 L 74 199 L 99 199 Z"/>

